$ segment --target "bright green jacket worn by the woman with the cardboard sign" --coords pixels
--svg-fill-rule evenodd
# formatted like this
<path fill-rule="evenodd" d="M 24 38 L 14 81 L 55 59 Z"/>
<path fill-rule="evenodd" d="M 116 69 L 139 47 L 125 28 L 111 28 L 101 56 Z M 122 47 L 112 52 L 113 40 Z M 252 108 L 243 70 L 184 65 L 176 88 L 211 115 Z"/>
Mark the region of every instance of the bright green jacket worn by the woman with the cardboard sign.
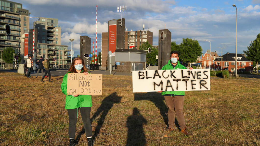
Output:
<path fill-rule="evenodd" d="M 83 70 L 81 72 L 83 72 Z M 74 97 L 72 95 L 67 95 L 67 78 L 68 78 L 68 73 L 64 75 L 63 81 L 61 83 L 61 91 L 63 94 L 66 95 L 65 109 L 92 107 L 91 95 L 79 95 L 77 97 Z"/>

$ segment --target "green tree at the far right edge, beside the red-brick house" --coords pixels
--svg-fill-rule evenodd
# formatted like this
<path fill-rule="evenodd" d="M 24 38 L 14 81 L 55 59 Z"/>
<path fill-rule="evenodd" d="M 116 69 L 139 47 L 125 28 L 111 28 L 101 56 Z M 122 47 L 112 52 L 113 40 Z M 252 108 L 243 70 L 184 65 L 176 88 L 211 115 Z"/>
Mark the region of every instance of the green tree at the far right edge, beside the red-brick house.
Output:
<path fill-rule="evenodd" d="M 246 51 L 243 51 L 246 54 L 246 58 L 250 61 L 256 62 L 256 66 L 258 62 L 260 62 L 260 34 L 256 36 L 256 39 L 247 47 Z M 257 72 L 257 68 L 256 68 Z"/>

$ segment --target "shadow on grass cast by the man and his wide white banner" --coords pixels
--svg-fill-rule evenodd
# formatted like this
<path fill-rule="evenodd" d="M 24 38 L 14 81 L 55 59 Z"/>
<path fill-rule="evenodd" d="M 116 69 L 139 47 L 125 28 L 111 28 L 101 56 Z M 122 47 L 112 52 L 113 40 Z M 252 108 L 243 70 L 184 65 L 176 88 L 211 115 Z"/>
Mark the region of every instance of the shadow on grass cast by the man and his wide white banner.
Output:
<path fill-rule="evenodd" d="M 161 93 L 158 92 L 147 92 L 147 93 L 136 93 L 134 94 L 134 100 L 148 100 L 154 103 L 154 105 L 160 110 L 160 114 L 163 118 L 163 121 L 168 128 L 168 107 L 164 103 L 164 96 L 161 95 Z M 176 127 L 180 130 L 180 126 L 178 124 L 178 121 L 175 118 L 174 124 Z"/>

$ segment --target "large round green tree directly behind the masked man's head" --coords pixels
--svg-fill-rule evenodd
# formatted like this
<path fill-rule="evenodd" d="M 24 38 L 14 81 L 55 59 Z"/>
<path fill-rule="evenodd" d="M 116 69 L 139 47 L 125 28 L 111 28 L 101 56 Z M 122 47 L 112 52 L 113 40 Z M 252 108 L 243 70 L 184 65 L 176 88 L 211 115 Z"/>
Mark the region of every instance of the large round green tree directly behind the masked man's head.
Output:
<path fill-rule="evenodd" d="M 199 42 L 195 39 L 191 38 L 183 38 L 183 42 L 176 47 L 179 52 L 179 60 L 183 60 L 183 62 L 190 63 L 196 62 L 198 56 L 202 55 L 202 48 L 199 45 Z M 178 46 L 178 45 L 176 45 Z"/>

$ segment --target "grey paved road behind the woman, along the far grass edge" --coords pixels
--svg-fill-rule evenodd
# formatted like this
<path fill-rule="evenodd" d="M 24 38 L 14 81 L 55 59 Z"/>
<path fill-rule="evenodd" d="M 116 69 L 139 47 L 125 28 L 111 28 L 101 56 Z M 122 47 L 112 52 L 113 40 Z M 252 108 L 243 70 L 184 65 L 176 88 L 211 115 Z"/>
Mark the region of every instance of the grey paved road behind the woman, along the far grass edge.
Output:
<path fill-rule="evenodd" d="M 17 72 L 15 69 L 4 69 L 1 71 L 7 71 L 7 72 Z M 67 73 L 68 70 L 60 69 L 60 70 L 50 70 L 51 76 L 64 76 Z M 44 71 L 43 71 L 44 73 Z M 102 75 L 110 75 L 110 71 L 107 70 L 90 70 L 90 73 L 92 74 L 102 74 Z M 132 76 L 132 73 L 128 72 L 116 72 L 116 71 L 111 71 L 112 75 L 122 75 L 122 76 Z M 32 71 L 31 76 L 36 76 L 37 71 Z M 39 72 L 38 76 L 41 76 L 41 71 Z"/>

